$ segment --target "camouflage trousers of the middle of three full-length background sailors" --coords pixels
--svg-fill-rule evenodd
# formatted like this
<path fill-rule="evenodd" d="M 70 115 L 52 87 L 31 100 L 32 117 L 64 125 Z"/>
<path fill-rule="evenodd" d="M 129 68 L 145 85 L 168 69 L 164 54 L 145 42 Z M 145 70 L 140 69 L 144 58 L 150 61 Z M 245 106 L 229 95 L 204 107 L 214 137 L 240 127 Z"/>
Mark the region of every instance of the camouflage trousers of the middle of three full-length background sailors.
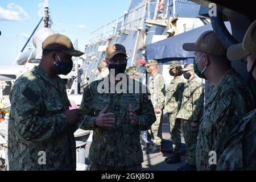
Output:
<path fill-rule="evenodd" d="M 168 113 L 172 147 L 174 148 L 173 151 L 176 154 L 180 154 L 181 153 L 181 135 L 180 135 L 181 122 L 180 122 L 180 119 L 177 119 L 177 121 L 175 121 L 175 116 L 176 114 L 174 113 Z"/>

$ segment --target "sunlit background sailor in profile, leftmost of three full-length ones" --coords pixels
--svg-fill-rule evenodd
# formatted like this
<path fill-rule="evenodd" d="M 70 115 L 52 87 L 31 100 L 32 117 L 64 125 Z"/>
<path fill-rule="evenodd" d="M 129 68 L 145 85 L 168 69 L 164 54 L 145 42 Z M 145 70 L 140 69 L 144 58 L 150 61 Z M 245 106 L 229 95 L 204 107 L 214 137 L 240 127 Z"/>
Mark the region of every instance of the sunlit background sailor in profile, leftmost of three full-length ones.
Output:
<path fill-rule="evenodd" d="M 155 109 L 156 117 L 156 121 L 152 125 L 151 130 L 148 131 L 153 139 L 153 146 L 149 148 L 146 153 L 154 154 L 160 152 L 162 142 L 162 121 L 166 89 L 163 76 L 158 72 L 158 61 L 148 60 L 145 66 L 147 67 L 147 72 L 151 73 L 148 81 L 148 89 L 151 94 L 151 101 Z"/>

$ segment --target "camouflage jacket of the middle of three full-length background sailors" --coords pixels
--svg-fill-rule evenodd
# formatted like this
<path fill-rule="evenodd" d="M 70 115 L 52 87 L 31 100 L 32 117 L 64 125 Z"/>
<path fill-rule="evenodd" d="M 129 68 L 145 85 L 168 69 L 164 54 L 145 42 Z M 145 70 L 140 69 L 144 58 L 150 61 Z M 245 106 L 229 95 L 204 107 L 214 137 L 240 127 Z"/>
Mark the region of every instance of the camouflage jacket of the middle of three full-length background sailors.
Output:
<path fill-rule="evenodd" d="M 185 89 L 185 81 L 180 76 L 171 81 L 166 93 L 166 106 L 164 110 L 167 113 L 175 113 L 180 109 L 183 92 Z"/>

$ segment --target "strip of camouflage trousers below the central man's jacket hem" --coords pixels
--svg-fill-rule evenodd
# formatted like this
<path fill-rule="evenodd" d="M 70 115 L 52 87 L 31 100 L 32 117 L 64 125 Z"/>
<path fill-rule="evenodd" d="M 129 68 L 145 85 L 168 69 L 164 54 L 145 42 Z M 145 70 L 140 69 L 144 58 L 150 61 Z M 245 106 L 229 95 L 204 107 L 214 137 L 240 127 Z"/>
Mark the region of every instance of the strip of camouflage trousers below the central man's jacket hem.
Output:
<path fill-rule="evenodd" d="M 90 171 L 142 171 L 142 165 L 135 166 L 102 166 L 101 164 L 93 163 L 90 165 Z"/>

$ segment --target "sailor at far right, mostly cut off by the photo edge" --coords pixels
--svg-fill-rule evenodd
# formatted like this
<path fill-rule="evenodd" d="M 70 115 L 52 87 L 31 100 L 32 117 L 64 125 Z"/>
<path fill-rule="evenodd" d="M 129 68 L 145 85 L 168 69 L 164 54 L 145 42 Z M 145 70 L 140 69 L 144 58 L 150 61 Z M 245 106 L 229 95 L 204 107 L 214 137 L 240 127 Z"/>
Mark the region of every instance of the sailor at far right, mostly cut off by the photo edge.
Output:
<path fill-rule="evenodd" d="M 249 84 L 256 89 L 256 20 L 248 28 L 243 42 L 229 47 L 229 60 L 247 60 Z M 255 93 L 254 93 L 255 97 Z M 256 170 L 256 109 L 234 127 L 224 143 L 217 170 Z"/>

